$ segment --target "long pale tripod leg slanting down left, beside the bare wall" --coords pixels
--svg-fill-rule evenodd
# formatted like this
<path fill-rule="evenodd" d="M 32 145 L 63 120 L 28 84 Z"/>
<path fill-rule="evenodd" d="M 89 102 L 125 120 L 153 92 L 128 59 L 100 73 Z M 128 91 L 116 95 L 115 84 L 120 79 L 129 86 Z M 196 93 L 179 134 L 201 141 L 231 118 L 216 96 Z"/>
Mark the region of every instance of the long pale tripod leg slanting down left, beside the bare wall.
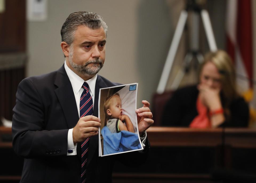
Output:
<path fill-rule="evenodd" d="M 176 51 L 181 39 L 182 32 L 185 27 L 186 20 L 187 20 L 187 11 L 182 10 L 181 15 L 179 17 L 178 25 L 176 27 L 176 30 L 173 36 L 173 40 L 171 42 L 171 46 L 165 61 L 165 65 L 163 67 L 163 72 L 157 87 L 157 93 L 163 93 L 165 91 L 166 83 L 169 78 L 171 67 L 173 65 L 173 60 L 176 55 Z"/>

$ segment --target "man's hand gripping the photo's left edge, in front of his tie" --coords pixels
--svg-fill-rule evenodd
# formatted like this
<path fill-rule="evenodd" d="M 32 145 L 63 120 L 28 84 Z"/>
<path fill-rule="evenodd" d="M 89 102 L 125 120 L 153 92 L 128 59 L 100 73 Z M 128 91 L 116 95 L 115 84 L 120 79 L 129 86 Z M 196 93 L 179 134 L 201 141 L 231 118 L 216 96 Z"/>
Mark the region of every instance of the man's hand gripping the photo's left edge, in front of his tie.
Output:
<path fill-rule="evenodd" d="M 101 120 L 95 116 L 81 117 L 73 129 L 73 142 L 85 141 L 88 137 L 98 135 Z"/>

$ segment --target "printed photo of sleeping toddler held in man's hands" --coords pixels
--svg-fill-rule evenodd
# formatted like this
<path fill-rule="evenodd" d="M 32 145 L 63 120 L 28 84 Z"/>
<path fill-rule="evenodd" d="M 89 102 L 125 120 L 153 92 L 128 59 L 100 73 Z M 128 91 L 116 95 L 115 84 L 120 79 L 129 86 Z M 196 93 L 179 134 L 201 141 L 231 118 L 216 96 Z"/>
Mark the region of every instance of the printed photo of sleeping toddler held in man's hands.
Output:
<path fill-rule="evenodd" d="M 100 89 L 99 156 L 142 149 L 135 113 L 136 86 L 132 84 Z"/>

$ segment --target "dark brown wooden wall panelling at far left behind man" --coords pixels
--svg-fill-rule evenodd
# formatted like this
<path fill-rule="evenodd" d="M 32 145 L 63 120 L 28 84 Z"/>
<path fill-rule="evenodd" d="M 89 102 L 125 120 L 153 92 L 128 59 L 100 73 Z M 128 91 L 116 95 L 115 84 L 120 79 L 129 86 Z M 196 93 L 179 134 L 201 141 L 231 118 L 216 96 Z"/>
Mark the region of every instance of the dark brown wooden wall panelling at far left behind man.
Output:
<path fill-rule="evenodd" d="M 0 13 L 0 121 L 12 119 L 15 93 L 25 77 L 26 0 L 5 0 Z"/>

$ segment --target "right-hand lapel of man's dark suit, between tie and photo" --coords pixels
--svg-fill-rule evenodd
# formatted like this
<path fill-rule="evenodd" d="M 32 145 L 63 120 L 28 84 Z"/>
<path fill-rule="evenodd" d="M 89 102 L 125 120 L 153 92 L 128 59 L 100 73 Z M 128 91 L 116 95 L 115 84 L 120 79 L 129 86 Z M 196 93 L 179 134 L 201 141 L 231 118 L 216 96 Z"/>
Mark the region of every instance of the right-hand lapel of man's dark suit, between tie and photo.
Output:
<path fill-rule="evenodd" d="M 101 79 L 101 76 L 98 75 L 96 84 L 95 84 L 93 116 L 98 117 L 99 89 L 106 88 L 106 87 L 107 87 L 106 83 Z M 89 165 L 95 151 L 98 150 L 98 147 L 99 147 L 99 136 L 96 135 L 96 136 L 90 137 L 87 166 Z"/>

